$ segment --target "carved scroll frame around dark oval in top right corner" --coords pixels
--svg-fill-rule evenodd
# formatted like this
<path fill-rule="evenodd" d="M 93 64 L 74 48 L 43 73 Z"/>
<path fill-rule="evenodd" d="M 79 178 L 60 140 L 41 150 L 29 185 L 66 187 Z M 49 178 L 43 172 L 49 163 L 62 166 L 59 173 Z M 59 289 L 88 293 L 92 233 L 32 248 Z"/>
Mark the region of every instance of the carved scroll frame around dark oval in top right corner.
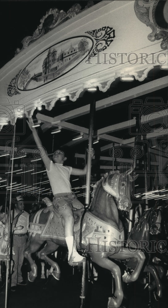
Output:
<path fill-rule="evenodd" d="M 151 42 L 162 39 L 161 48 L 168 48 L 168 24 L 166 21 L 165 10 L 167 0 L 136 0 L 134 10 L 137 18 L 152 29 L 148 34 Z"/>

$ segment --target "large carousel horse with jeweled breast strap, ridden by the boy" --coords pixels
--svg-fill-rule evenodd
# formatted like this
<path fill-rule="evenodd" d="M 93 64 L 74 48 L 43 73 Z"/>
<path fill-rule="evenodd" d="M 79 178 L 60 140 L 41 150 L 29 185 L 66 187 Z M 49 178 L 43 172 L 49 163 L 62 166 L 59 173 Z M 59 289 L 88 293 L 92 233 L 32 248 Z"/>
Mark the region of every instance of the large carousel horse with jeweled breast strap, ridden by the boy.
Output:
<path fill-rule="evenodd" d="M 82 249 L 88 252 L 91 260 L 104 269 L 111 271 L 115 279 L 115 294 L 109 297 L 108 307 L 120 307 L 123 300 L 121 271 L 119 265 L 112 261 L 135 258 L 136 267 L 131 274 L 125 273 L 123 281 L 134 282 L 139 277 L 145 261 L 145 254 L 141 250 L 123 247 L 124 229 L 119 219 L 118 209 L 128 211 L 132 204 L 130 201 L 131 182 L 133 181 L 130 169 L 124 173 L 111 171 L 99 180 L 94 187 L 94 198 L 89 209 L 83 217 Z M 74 237 L 77 249 L 80 249 L 80 221 L 84 209 L 74 211 Z M 50 273 L 59 279 L 60 268 L 52 261 L 48 254 L 61 246 L 66 246 L 64 236 L 64 221 L 54 211 L 52 202 L 45 209 L 33 214 L 29 226 L 29 246 L 24 256 L 30 263 L 31 271 L 28 273 L 29 281 L 33 282 L 37 276 L 37 266 L 31 254 L 46 245 L 38 252 L 38 257 L 51 265 Z M 122 249 L 121 249 L 122 248 Z M 83 262 L 86 263 L 86 262 Z"/>

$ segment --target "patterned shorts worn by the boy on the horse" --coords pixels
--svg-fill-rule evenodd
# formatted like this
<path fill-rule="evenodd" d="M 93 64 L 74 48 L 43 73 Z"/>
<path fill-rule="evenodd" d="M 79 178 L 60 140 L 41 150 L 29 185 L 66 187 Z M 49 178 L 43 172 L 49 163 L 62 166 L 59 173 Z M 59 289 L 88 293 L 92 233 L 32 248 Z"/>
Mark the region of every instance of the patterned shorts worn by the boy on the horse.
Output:
<path fill-rule="evenodd" d="M 52 203 L 54 210 L 56 213 L 61 213 L 66 209 L 68 206 L 70 209 L 73 209 L 73 199 L 76 196 L 73 193 L 58 193 L 53 197 Z"/>

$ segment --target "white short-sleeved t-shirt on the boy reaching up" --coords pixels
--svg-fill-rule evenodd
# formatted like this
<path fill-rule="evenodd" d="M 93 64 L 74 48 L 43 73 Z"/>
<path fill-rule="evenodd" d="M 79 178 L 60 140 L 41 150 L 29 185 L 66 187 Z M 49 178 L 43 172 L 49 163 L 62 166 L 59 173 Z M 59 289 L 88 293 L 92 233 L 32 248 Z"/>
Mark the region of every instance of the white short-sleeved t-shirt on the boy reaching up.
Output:
<path fill-rule="evenodd" d="M 57 193 L 72 193 L 70 184 L 70 174 L 72 167 L 64 166 L 63 164 L 50 163 L 50 170 L 47 171 L 48 179 L 52 188 L 53 195 Z"/>

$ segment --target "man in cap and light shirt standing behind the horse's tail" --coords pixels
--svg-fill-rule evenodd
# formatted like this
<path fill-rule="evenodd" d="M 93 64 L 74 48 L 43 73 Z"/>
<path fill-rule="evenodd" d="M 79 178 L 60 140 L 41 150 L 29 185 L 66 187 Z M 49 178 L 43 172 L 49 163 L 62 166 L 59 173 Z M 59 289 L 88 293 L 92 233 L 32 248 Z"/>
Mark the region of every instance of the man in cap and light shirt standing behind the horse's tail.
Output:
<path fill-rule="evenodd" d="M 21 267 L 23 264 L 23 251 L 26 248 L 27 242 L 27 230 L 29 225 L 29 214 L 24 211 L 23 198 L 21 196 L 17 196 L 15 200 L 15 209 L 11 211 L 12 220 L 18 215 L 20 212 L 22 214 L 19 216 L 16 227 L 23 226 L 21 230 L 15 230 L 13 236 L 13 248 L 15 251 L 15 255 L 13 255 L 13 274 L 11 277 L 11 291 L 16 291 L 16 286 L 22 285 L 25 286 L 26 283 L 23 281 Z"/>

